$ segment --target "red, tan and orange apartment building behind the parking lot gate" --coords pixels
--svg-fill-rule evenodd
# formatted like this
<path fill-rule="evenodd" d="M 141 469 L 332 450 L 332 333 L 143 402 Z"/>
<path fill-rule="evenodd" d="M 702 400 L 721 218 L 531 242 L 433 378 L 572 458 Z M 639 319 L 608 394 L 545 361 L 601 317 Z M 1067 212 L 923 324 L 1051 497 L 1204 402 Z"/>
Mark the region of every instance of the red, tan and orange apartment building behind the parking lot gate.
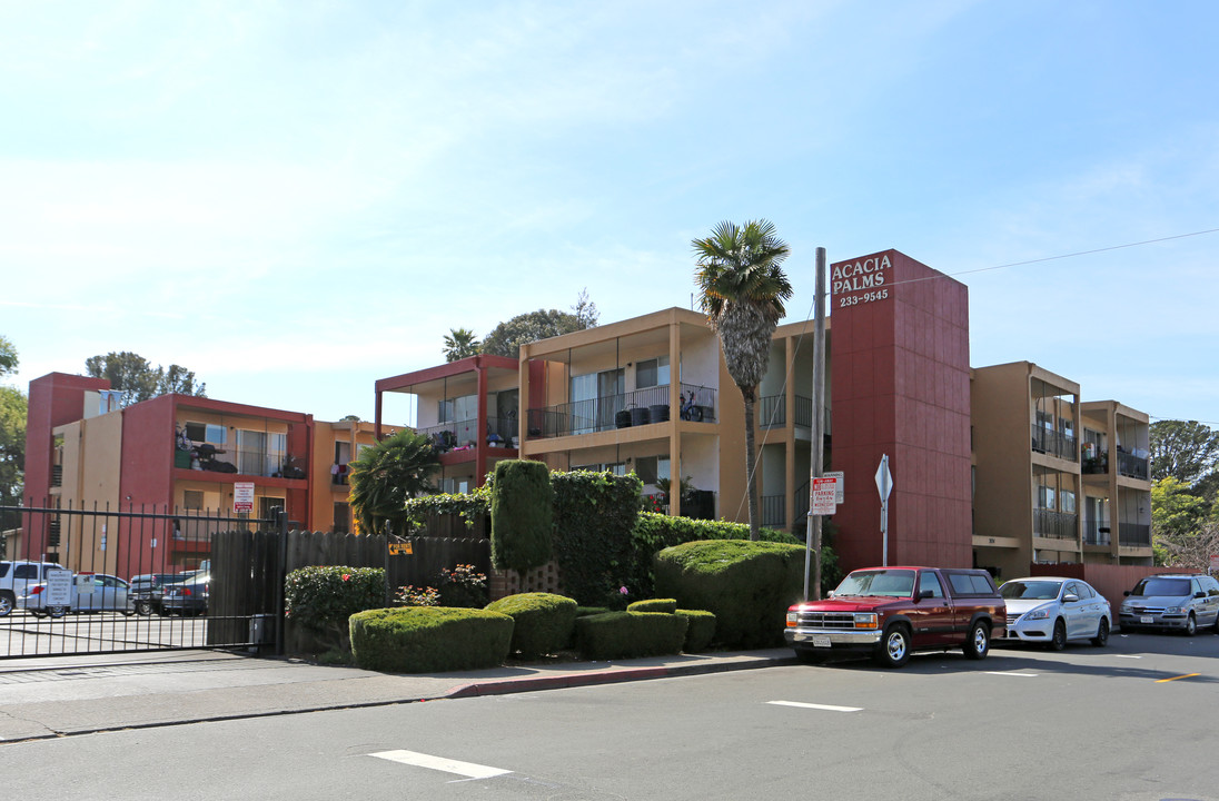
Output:
<path fill-rule="evenodd" d="M 319 424 L 301 412 L 191 395 L 119 408 L 107 380 L 50 373 L 29 385 L 26 505 L 174 517 L 124 522 L 123 530 L 102 519 L 76 539 L 67 529 L 77 518 L 39 517 L 23 551 L 73 569 L 194 567 L 208 557 L 210 535 L 232 525 L 215 518 L 233 516 L 238 483 L 254 485 L 255 518 L 283 508 L 293 525 L 340 528 L 349 519 L 340 468 L 352 447 L 372 441 L 368 423 Z"/>

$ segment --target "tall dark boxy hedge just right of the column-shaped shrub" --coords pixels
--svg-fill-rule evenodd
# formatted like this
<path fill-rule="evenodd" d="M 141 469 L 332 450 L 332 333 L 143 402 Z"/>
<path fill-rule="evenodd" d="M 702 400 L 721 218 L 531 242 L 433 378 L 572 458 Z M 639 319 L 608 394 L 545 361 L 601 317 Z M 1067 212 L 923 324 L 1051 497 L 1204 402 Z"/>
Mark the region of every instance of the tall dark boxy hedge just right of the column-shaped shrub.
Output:
<path fill-rule="evenodd" d="M 635 475 L 591 471 L 551 473 L 555 488 L 555 561 L 563 591 L 588 606 L 623 608 L 630 591 L 631 530 L 642 485 Z"/>

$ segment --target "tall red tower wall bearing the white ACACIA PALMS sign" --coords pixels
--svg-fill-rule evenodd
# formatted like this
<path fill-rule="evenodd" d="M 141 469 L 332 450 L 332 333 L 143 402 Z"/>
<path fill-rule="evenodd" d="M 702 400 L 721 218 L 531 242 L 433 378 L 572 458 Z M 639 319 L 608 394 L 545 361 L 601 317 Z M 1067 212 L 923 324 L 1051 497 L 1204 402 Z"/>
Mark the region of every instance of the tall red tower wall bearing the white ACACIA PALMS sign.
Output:
<path fill-rule="evenodd" d="M 845 569 L 880 564 L 875 473 L 889 455 L 889 564 L 969 567 L 969 296 L 896 250 L 830 266 L 834 469 Z"/>

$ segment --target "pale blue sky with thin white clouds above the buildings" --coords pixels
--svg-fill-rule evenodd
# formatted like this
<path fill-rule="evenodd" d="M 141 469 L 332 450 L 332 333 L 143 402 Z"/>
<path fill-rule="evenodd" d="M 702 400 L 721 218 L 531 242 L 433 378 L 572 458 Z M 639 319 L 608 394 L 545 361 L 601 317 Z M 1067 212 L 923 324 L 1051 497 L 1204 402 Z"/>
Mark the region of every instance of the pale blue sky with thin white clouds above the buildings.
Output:
<path fill-rule="evenodd" d="M 789 321 L 816 247 L 895 247 L 969 287 L 974 366 L 1219 425 L 1217 37 L 1209 1 L 0 0 L 0 334 L 18 385 L 129 350 L 371 419 L 451 328 L 689 307 L 690 240 L 764 217 Z"/>

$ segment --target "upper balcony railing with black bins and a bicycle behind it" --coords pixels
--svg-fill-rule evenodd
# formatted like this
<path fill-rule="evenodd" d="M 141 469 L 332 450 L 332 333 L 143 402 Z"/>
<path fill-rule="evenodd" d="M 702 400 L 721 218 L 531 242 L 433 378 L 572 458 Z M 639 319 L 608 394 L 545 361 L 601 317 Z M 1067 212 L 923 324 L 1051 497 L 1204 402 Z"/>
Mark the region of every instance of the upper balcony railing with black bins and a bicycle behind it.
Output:
<path fill-rule="evenodd" d="M 680 391 L 688 404 L 678 410 L 678 415 L 673 415 L 669 408 L 668 386 L 649 386 L 631 393 L 530 408 L 529 435 L 549 438 L 592 434 L 614 428 L 663 423 L 678 416 L 695 422 L 716 421 L 716 390 L 681 384 Z"/>

